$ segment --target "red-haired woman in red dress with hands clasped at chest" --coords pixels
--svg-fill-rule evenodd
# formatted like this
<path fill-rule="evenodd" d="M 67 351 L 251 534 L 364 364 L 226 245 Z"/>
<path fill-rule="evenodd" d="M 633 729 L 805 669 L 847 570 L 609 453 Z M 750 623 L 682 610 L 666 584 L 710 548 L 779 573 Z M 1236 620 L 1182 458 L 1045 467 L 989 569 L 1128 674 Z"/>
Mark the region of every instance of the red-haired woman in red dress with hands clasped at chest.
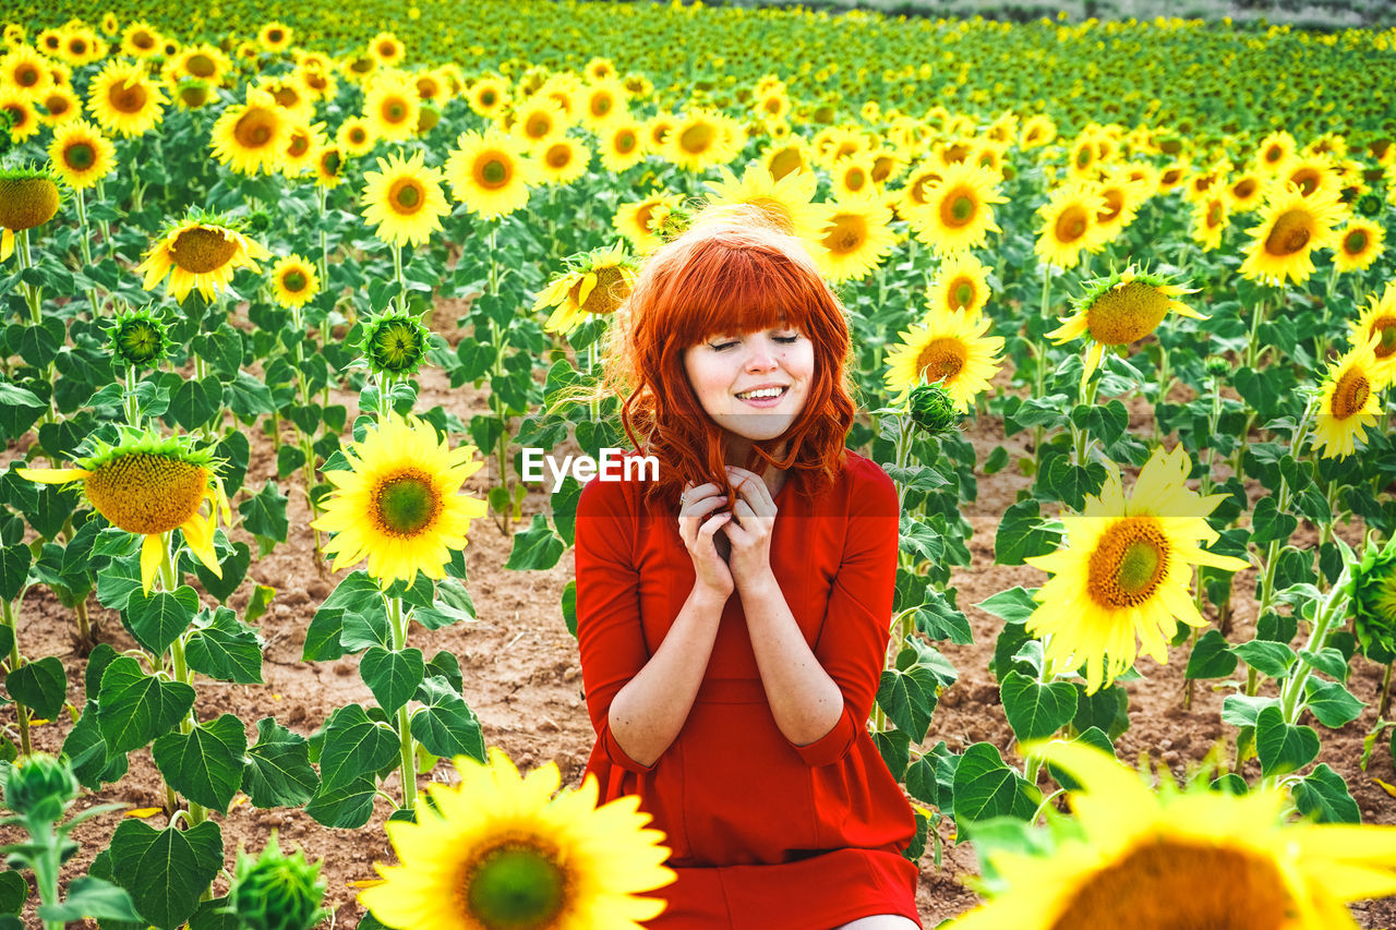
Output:
<path fill-rule="evenodd" d="M 843 309 L 768 223 L 711 208 L 613 325 L 607 380 L 659 479 L 578 505 L 586 771 L 667 836 L 655 930 L 913 930 L 914 820 L 864 726 L 896 492 L 843 448 Z"/>

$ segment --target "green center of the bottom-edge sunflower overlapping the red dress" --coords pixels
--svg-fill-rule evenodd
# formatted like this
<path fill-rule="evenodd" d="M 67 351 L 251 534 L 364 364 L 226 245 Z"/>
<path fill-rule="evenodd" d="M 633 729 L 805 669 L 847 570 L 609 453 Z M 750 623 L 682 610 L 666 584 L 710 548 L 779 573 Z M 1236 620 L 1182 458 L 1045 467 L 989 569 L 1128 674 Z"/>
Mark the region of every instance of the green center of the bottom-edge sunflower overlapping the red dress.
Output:
<path fill-rule="evenodd" d="M 567 870 L 546 850 L 504 843 L 472 863 L 465 903 L 483 930 L 543 930 L 568 903 Z"/>

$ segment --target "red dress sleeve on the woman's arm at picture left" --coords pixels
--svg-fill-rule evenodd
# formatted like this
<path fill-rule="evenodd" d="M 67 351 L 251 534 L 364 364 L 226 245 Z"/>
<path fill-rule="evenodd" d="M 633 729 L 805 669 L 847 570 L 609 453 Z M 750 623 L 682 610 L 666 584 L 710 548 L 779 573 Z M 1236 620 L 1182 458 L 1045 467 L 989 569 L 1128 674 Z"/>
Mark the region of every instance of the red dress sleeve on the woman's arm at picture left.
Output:
<path fill-rule="evenodd" d="M 649 772 L 610 732 L 616 694 L 649 660 L 639 617 L 639 573 L 632 545 L 639 515 L 630 512 L 621 485 L 588 482 L 577 503 L 577 642 L 592 728 L 610 761 Z"/>

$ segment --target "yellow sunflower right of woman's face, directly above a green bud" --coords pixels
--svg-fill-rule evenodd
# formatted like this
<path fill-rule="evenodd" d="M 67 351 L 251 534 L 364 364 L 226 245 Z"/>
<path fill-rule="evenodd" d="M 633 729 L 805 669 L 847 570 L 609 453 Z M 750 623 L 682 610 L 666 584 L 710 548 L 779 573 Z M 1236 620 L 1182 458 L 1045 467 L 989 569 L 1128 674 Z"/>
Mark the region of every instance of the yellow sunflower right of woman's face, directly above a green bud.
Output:
<path fill-rule="evenodd" d="M 963 310 L 948 313 L 933 307 L 919 324 L 902 334 L 902 344 L 886 353 L 886 390 L 906 401 L 921 383 L 945 388 L 955 409 L 969 412 L 970 402 L 988 390 L 998 373 L 1002 337 L 986 335 L 988 317 Z"/>

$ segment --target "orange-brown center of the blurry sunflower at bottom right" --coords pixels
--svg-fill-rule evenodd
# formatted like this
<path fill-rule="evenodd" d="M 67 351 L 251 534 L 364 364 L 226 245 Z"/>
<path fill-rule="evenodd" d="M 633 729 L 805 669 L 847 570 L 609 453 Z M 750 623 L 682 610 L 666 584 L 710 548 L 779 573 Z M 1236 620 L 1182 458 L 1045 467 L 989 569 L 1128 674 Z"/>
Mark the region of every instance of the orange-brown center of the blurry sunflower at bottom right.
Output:
<path fill-rule="evenodd" d="M 1273 863 L 1237 849 L 1157 841 L 1090 876 L 1051 930 L 1275 930 L 1294 916 Z"/>

